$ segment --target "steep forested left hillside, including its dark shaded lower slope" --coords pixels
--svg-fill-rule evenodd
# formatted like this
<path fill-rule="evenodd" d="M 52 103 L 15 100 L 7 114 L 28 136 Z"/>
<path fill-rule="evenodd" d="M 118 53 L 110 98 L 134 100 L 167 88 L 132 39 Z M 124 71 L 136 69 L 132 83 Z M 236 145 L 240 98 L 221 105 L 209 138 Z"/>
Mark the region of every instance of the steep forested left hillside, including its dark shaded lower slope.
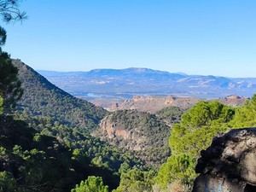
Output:
<path fill-rule="evenodd" d="M 70 192 L 91 175 L 102 177 L 114 189 L 123 164 L 145 168 L 130 153 L 90 136 L 88 129 L 96 126 L 92 118 L 99 121 L 97 113 L 105 110 L 68 95 L 20 61 L 14 63 L 24 90 L 20 103 L 26 106 L 18 103 L 18 110 L 9 115 L 2 109 L 2 100 L 0 103 L 0 191 Z M 61 116 L 65 110 L 67 115 L 68 110 L 80 110 L 85 116 L 78 118 L 87 118 L 87 124 L 68 126 L 73 125 L 74 117 L 68 116 L 67 122 Z"/>

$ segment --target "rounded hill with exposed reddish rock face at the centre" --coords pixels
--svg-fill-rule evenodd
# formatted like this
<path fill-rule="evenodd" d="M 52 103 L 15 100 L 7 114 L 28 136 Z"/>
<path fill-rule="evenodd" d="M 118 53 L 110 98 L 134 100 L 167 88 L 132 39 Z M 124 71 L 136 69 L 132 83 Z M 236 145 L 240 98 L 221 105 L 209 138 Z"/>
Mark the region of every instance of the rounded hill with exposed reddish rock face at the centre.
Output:
<path fill-rule="evenodd" d="M 113 112 L 102 119 L 94 135 L 131 151 L 151 166 L 160 166 L 170 153 L 170 127 L 150 113 L 137 110 Z"/>

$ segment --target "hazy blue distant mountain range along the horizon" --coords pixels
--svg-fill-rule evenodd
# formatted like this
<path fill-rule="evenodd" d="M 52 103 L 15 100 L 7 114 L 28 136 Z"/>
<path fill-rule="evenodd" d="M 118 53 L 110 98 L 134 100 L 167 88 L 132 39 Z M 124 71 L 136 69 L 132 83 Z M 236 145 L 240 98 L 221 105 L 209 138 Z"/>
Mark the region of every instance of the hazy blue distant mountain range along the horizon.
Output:
<path fill-rule="evenodd" d="M 230 69 L 231 70 L 231 69 Z M 252 96 L 256 78 L 169 73 L 148 68 L 95 69 L 89 72 L 38 71 L 73 96 L 125 97 L 172 95 L 216 98 L 229 95 Z"/>

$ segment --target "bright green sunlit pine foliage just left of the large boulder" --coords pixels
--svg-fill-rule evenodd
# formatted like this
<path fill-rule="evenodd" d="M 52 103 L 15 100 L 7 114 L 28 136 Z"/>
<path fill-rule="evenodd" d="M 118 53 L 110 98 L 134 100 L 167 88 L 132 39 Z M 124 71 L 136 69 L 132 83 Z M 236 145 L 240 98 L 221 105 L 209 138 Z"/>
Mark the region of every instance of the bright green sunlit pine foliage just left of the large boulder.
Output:
<path fill-rule="evenodd" d="M 169 138 L 172 156 L 160 167 L 156 183 L 166 188 L 169 183 L 180 181 L 193 184 L 196 160 L 212 138 L 229 129 L 235 109 L 219 102 L 199 102 L 186 113 L 181 122 L 172 127 Z"/>

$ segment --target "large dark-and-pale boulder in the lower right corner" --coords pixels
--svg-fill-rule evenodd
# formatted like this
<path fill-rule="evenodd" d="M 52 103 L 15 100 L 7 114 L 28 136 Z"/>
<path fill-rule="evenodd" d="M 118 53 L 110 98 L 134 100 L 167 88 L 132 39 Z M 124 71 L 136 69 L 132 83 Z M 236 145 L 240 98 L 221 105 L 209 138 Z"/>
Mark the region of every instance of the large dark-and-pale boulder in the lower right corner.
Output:
<path fill-rule="evenodd" d="M 201 152 L 193 192 L 256 191 L 256 128 L 232 130 Z"/>

